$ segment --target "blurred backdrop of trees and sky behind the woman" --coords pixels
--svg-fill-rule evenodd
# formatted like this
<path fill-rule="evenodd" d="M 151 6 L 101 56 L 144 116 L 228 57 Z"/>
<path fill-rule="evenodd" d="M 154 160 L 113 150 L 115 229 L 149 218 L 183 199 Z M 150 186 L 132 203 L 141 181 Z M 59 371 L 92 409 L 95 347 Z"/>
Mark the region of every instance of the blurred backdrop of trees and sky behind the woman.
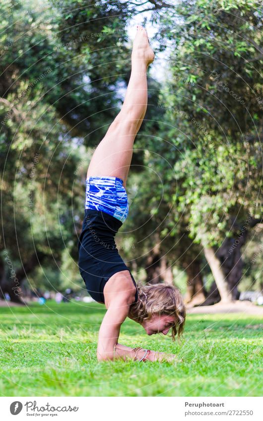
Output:
<path fill-rule="evenodd" d="M 3 0 L 0 14 L 0 302 L 90 300 L 86 172 L 142 24 L 155 61 L 119 252 L 189 306 L 263 304 L 262 2 Z"/>

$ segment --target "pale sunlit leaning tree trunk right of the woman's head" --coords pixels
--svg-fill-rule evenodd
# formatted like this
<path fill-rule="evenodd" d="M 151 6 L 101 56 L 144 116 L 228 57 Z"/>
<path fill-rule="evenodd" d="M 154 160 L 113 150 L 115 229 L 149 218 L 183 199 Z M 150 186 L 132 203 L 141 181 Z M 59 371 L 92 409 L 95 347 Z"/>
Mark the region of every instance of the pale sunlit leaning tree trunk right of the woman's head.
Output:
<path fill-rule="evenodd" d="M 231 302 L 231 291 L 228 282 L 225 278 L 223 269 L 221 267 L 220 260 L 216 257 L 214 249 L 212 247 L 204 247 L 203 250 L 221 297 L 220 302 Z"/>

